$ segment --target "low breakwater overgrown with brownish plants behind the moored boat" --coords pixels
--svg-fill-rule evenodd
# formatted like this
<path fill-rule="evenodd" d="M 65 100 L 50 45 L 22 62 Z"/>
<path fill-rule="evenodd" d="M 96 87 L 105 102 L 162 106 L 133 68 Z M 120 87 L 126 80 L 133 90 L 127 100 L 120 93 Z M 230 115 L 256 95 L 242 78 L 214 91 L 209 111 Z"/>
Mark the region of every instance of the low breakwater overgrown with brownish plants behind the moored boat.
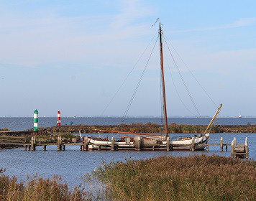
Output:
<path fill-rule="evenodd" d="M 206 126 L 196 125 L 178 125 L 171 123 L 169 126 L 170 133 L 175 134 L 188 134 L 188 133 L 204 133 Z M 133 123 L 122 124 L 120 126 L 108 125 L 108 126 L 88 126 L 88 125 L 76 125 L 76 126 L 52 126 L 47 128 L 39 128 L 38 133 L 43 134 L 78 134 L 79 131 L 83 134 L 96 134 L 99 130 L 108 131 L 124 131 L 132 133 L 163 133 L 163 127 L 156 123 Z M 213 126 L 211 133 L 256 133 L 256 125 L 252 126 Z"/>

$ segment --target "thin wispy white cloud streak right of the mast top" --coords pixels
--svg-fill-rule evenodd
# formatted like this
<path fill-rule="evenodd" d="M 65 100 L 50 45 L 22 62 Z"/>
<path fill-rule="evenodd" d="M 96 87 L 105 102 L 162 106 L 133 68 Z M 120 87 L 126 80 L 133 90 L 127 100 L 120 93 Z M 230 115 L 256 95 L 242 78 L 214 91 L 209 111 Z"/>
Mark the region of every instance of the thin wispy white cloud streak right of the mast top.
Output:
<path fill-rule="evenodd" d="M 216 29 L 231 29 L 231 28 L 237 28 L 237 27 L 247 27 L 247 26 L 251 26 L 253 24 L 256 24 L 256 17 L 242 18 L 242 19 L 238 19 L 237 21 L 229 23 L 229 24 L 222 24 L 222 25 L 214 26 L 214 27 L 202 27 L 202 28 L 198 28 L 198 29 L 176 30 L 176 31 L 172 31 L 172 32 L 173 33 L 204 32 L 204 31 L 211 31 L 211 30 L 216 30 Z"/>

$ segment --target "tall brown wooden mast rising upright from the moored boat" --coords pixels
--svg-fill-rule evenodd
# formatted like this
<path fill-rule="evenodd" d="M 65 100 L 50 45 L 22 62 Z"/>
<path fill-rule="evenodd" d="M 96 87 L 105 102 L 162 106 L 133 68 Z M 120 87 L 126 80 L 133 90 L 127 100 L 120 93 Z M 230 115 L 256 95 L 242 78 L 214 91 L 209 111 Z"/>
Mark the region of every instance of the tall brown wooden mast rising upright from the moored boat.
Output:
<path fill-rule="evenodd" d="M 165 114 L 165 137 L 168 138 L 168 121 L 165 101 L 165 76 L 163 71 L 163 44 L 162 44 L 162 29 L 161 22 L 159 23 L 159 36 L 160 36 L 160 57 L 161 57 L 161 75 L 162 75 L 162 89 L 163 89 L 163 112 Z"/>

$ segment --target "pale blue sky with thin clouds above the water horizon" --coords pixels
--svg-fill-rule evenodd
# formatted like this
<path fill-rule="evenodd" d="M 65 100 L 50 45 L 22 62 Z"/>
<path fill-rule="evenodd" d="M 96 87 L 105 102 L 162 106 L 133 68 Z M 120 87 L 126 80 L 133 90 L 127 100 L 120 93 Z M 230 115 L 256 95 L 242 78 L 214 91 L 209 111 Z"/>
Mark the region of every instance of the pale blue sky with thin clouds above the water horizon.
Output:
<path fill-rule="evenodd" d="M 160 116 L 157 18 L 168 116 L 198 114 L 170 52 L 201 116 L 220 103 L 221 116 L 256 116 L 255 8 L 236 0 L 0 0 L 0 116 L 123 116 L 149 58 L 127 116 Z"/>

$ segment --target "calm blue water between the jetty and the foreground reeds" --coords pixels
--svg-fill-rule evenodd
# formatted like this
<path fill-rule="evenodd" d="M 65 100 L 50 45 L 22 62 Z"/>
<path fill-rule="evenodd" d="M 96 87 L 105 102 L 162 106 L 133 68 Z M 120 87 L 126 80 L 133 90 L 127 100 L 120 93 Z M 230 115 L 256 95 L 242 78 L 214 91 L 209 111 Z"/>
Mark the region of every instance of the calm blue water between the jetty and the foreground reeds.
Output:
<path fill-rule="evenodd" d="M 90 135 L 90 134 L 88 134 Z M 172 136 L 180 134 L 172 134 Z M 256 159 L 256 134 L 211 134 L 209 143 L 219 142 L 221 136 L 224 143 L 231 143 L 234 136 L 237 143 L 244 143 L 247 136 L 249 141 L 249 156 Z M 111 134 L 109 134 L 111 137 Z M 124 161 L 124 159 L 147 159 L 152 156 L 173 155 L 187 156 L 189 154 L 218 154 L 230 156 L 228 151 L 219 151 L 219 146 L 210 146 L 209 151 L 80 151 L 79 146 L 66 146 L 65 151 L 57 151 L 57 146 L 47 146 L 47 151 L 38 146 L 36 151 L 19 149 L 6 149 L 0 151 L 0 167 L 6 168 L 6 174 L 15 175 L 18 179 L 26 179 L 27 174 L 47 178 L 52 174 L 59 174 L 63 182 L 70 187 L 82 182 L 81 177 L 99 167 L 103 161 Z"/>

